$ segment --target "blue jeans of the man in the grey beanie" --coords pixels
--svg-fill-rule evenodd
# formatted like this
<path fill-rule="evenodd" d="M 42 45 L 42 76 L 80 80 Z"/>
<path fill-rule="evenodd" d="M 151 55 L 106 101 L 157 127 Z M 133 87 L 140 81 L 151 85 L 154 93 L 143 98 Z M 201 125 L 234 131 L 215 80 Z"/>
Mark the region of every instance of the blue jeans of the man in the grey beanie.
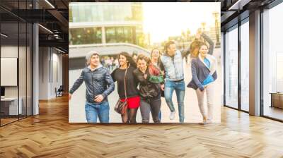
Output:
<path fill-rule="evenodd" d="M 91 104 L 86 102 L 86 121 L 96 123 L 97 118 L 100 123 L 109 123 L 109 104 L 101 102 L 100 104 Z"/>

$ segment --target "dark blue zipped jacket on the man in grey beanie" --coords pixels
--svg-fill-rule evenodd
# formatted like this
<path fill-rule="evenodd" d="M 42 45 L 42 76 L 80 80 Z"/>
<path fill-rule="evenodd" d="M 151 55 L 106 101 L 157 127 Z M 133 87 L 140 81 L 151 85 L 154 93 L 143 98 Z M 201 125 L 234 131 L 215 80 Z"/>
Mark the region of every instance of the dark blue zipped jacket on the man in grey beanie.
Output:
<path fill-rule="evenodd" d="M 86 84 L 86 101 L 97 104 L 94 101 L 96 95 L 103 95 L 104 99 L 102 102 L 107 102 L 107 96 L 113 92 L 115 84 L 112 80 L 108 69 L 105 67 L 96 68 L 94 71 L 91 71 L 90 68 L 83 68 L 81 71 L 80 77 L 76 80 L 69 93 L 73 94 L 83 83 Z"/>

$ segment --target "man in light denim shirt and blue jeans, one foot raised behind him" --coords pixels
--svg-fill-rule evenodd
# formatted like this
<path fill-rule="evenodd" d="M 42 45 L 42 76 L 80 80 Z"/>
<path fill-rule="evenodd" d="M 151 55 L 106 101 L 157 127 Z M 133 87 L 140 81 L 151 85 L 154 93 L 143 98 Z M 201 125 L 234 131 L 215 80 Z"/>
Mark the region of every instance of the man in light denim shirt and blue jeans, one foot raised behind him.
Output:
<path fill-rule="evenodd" d="M 165 53 L 161 56 L 161 61 L 165 68 L 165 85 L 162 86 L 166 103 L 171 111 L 170 119 L 175 118 L 175 108 L 172 102 L 172 95 L 175 90 L 178 102 L 179 121 L 184 122 L 184 97 L 185 82 L 183 69 L 183 54 L 176 49 L 173 41 L 166 43 Z"/>

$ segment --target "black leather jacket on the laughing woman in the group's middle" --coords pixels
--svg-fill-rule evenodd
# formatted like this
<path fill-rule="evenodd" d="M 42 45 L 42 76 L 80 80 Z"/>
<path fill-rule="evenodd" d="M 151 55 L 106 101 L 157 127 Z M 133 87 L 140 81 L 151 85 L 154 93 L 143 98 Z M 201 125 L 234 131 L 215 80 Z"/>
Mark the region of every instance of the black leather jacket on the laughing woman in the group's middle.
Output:
<path fill-rule="evenodd" d="M 144 78 L 144 73 L 142 73 L 138 68 L 134 70 L 134 75 L 139 81 L 139 96 L 143 99 L 154 99 L 161 97 L 161 84 L 149 82 L 149 68 L 146 69 L 147 77 Z"/>

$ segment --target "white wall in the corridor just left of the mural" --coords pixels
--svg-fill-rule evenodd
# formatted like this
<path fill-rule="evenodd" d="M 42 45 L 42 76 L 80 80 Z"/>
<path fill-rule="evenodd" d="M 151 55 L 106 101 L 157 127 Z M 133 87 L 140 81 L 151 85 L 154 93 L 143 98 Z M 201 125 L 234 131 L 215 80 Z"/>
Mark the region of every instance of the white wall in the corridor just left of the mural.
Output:
<path fill-rule="evenodd" d="M 62 54 L 58 53 L 54 48 L 40 47 L 39 99 L 56 97 L 55 87 L 62 85 Z"/>

